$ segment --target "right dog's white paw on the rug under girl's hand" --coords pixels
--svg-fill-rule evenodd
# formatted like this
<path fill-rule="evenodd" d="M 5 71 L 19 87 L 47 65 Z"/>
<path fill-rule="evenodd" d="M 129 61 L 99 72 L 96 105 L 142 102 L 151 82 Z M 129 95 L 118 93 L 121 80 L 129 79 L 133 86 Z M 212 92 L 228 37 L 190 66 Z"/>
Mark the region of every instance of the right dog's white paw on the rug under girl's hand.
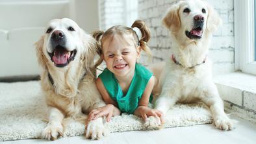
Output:
<path fill-rule="evenodd" d="M 159 117 L 153 116 L 150 116 L 146 119 L 144 126 L 146 127 L 147 130 L 159 130 L 160 128 L 162 128 L 162 124 Z"/>

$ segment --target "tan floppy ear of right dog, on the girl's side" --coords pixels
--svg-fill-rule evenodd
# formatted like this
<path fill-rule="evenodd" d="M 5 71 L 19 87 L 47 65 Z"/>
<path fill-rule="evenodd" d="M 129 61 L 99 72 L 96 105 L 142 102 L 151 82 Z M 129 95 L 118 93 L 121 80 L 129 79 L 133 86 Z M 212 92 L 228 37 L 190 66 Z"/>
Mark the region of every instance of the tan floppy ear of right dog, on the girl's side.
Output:
<path fill-rule="evenodd" d="M 171 31 L 175 31 L 181 27 L 181 20 L 179 18 L 179 3 L 171 6 L 168 13 L 162 19 L 162 23 Z"/>

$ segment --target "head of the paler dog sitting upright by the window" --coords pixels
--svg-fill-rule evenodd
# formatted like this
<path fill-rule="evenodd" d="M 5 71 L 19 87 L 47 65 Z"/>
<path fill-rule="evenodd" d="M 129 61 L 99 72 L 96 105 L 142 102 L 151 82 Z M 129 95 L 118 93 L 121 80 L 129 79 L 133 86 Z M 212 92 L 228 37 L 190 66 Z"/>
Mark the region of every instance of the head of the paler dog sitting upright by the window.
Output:
<path fill-rule="evenodd" d="M 221 19 L 204 1 L 188 0 L 171 6 L 162 22 L 179 39 L 194 42 L 214 32 Z"/>

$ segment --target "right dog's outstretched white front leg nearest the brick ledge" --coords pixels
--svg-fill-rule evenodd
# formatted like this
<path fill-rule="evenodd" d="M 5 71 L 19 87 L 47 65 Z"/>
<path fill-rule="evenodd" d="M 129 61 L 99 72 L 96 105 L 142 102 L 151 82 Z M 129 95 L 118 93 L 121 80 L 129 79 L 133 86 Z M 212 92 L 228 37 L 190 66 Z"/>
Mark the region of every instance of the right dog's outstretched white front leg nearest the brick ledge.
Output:
<path fill-rule="evenodd" d="M 214 84 L 209 88 L 208 92 L 203 97 L 202 101 L 209 106 L 214 125 L 220 130 L 232 130 L 235 128 L 236 121 L 229 119 L 227 114 L 224 112 L 224 104 L 218 90 Z"/>

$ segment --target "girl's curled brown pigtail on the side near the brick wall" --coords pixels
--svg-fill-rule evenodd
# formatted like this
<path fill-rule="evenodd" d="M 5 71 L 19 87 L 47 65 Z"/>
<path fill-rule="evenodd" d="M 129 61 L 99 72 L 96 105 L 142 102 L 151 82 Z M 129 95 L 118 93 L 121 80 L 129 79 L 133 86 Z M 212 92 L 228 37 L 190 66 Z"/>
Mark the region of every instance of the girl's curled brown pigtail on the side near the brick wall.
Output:
<path fill-rule="evenodd" d="M 149 56 L 152 56 L 151 50 L 147 46 L 147 42 L 150 39 L 150 31 L 149 31 L 149 28 L 147 27 L 146 23 L 141 20 L 136 20 L 136 21 L 134 21 L 134 23 L 131 27 L 132 28 L 136 27 L 136 28 L 140 29 L 140 32 L 142 33 L 142 38 L 140 38 L 140 40 L 138 40 L 138 43 L 143 51 L 145 51 Z M 136 34 L 136 32 L 134 32 L 134 34 Z M 138 38 L 137 34 L 136 34 L 136 37 Z"/>

